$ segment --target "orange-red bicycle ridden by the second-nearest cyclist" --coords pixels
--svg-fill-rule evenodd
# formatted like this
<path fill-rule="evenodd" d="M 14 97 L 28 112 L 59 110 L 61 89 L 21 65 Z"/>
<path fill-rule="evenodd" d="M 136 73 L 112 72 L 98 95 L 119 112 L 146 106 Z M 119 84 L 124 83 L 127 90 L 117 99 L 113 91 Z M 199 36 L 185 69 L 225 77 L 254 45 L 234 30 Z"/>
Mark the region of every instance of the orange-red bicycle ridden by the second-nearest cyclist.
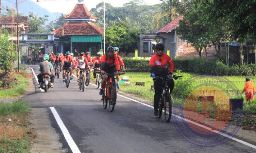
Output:
<path fill-rule="evenodd" d="M 108 74 L 110 76 L 110 79 L 107 81 L 107 85 L 105 86 L 104 93 L 102 95 L 102 104 L 104 109 L 109 109 L 109 111 L 114 111 L 115 104 L 117 102 L 117 82 L 116 82 L 116 77 L 115 75 L 117 72 L 114 74 Z M 125 74 L 125 73 L 122 73 Z M 114 80 L 112 80 L 112 78 Z M 111 95 L 112 94 L 112 95 Z"/>

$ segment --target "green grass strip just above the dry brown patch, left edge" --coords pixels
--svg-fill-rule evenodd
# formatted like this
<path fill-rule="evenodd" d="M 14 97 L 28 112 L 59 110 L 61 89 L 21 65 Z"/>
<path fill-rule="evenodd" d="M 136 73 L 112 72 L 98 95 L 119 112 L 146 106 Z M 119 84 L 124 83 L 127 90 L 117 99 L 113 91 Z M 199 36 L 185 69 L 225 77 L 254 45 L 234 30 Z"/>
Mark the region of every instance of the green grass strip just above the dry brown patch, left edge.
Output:
<path fill-rule="evenodd" d="M 30 112 L 28 102 L 18 100 L 12 103 L 0 102 L 0 115 L 6 116 L 11 114 L 27 114 Z"/>

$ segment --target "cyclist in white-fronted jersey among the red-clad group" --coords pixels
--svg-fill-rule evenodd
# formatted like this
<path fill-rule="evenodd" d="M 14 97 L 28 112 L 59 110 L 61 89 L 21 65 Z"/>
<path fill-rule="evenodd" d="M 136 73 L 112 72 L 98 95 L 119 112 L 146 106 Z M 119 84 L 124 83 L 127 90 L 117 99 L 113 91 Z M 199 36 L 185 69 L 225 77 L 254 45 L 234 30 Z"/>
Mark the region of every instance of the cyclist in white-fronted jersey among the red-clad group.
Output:
<path fill-rule="evenodd" d="M 79 58 L 75 62 L 76 70 L 77 70 L 77 82 L 79 82 L 80 72 L 78 68 L 85 69 L 86 67 L 90 69 L 87 59 L 84 57 L 84 52 L 80 53 Z M 86 73 L 84 73 L 84 82 L 86 82 Z"/>

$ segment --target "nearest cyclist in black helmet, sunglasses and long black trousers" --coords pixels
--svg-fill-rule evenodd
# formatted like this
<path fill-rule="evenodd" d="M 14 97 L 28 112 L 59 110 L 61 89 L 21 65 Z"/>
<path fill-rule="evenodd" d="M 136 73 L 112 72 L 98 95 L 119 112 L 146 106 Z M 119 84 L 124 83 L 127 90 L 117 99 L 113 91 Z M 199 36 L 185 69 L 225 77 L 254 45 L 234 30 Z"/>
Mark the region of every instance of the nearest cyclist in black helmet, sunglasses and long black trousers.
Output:
<path fill-rule="evenodd" d="M 171 78 L 172 73 L 174 70 L 174 64 L 170 56 L 163 53 L 164 52 L 164 45 L 161 43 L 158 43 L 155 46 L 156 54 L 153 55 L 149 62 L 150 67 L 150 73 L 151 77 L 155 78 L 156 76 L 160 76 L 162 78 Z M 167 65 L 170 66 L 170 71 L 168 71 Z M 168 79 L 167 81 L 168 86 L 170 87 L 170 94 L 172 93 L 173 87 L 174 87 L 174 81 L 173 79 Z M 161 98 L 162 93 L 162 80 L 156 79 L 154 81 L 154 88 L 155 88 L 155 95 L 154 95 L 154 115 L 157 116 L 158 114 L 158 105 Z"/>

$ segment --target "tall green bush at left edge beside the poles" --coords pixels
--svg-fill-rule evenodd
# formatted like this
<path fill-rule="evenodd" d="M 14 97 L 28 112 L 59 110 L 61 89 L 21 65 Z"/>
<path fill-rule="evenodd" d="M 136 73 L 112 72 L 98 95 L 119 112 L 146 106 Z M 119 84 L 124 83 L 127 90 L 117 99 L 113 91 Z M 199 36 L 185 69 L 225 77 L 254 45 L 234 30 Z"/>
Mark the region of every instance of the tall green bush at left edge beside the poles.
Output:
<path fill-rule="evenodd" d="M 6 73 L 10 72 L 11 69 L 11 42 L 8 40 L 9 37 L 0 35 L 0 69 Z M 15 50 L 15 48 L 13 48 Z M 13 54 L 13 59 L 16 59 L 16 54 Z"/>

